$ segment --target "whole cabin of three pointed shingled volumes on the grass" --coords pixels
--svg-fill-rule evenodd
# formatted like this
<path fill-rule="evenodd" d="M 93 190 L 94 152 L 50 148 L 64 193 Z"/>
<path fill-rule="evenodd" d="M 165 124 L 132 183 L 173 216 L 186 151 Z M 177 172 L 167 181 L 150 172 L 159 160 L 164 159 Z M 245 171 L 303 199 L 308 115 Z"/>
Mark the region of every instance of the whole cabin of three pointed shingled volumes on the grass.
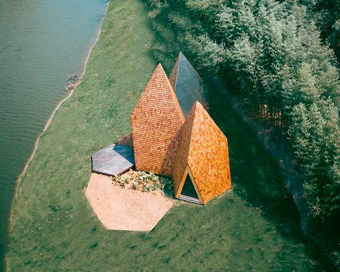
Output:
<path fill-rule="evenodd" d="M 203 81 L 180 52 L 170 80 L 156 67 L 130 120 L 136 169 L 170 176 L 176 198 L 207 204 L 231 179 L 227 138 L 202 104 Z"/>

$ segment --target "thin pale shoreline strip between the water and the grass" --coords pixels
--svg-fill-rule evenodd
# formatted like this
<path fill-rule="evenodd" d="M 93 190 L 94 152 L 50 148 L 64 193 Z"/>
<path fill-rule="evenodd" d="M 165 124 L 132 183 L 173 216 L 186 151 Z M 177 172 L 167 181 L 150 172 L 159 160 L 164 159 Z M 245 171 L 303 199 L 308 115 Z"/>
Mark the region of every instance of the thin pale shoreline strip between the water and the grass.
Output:
<path fill-rule="evenodd" d="M 14 201 L 16 200 L 17 198 L 17 189 L 18 189 L 18 186 L 21 182 L 21 179 L 22 177 L 25 175 L 26 173 L 26 170 L 28 169 L 32 159 L 34 158 L 34 155 L 35 155 L 35 152 L 37 151 L 38 149 L 38 144 L 39 144 L 39 139 L 40 137 L 43 135 L 43 133 L 45 133 L 47 131 L 47 129 L 49 128 L 49 126 L 51 125 L 52 121 L 53 121 L 53 118 L 54 118 L 54 115 L 55 113 L 57 112 L 57 110 L 61 107 L 61 105 L 67 101 L 73 94 L 73 92 L 75 91 L 75 89 L 77 88 L 78 85 L 80 85 L 82 83 L 82 79 L 83 79 L 83 76 L 85 75 L 85 72 L 86 72 L 86 65 L 87 65 L 87 61 L 90 57 L 90 54 L 91 54 L 91 51 L 93 49 L 93 47 L 97 44 L 98 40 L 99 40 L 99 37 L 100 37 L 100 34 L 102 32 L 102 23 L 106 17 L 106 13 L 107 13 L 107 9 L 109 7 L 109 1 L 107 1 L 106 3 L 106 8 L 105 8 L 105 12 L 104 12 L 104 16 L 103 16 L 103 19 L 102 19 L 102 22 L 101 22 L 101 26 L 97 32 L 97 36 L 96 36 L 96 39 L 94 41 L 94 43 L 92 44 L 92 46 L 89 48 L 88 50 L 88 53 L 87 53 L 87 57 L 85 59 L 85 62 L 84 62 L 84 68 L 83 68 L 83 72 L 81 74 L 81 76 L 79 77 L 79 81 L 75 84 L 74 87 L 72 87 L 72 89 L 69 91 L 69 94 L 66 96 L 66 98 L 64 98 L 63 100 L 61 100 L 57 105 L 56 107 L 53 109 L 49 119 L 47 120 L 44 128 L 42 129 L 42 131 L 40 132 L 40 134 L 37 136 L 35 142 L 34 142 L 34 148 L 33 148 L 33 151 L 31 153 L 31 156 L 28 158 L 28 160 L 26 161 L 25 163 L 25 166 L 23 168 L 23 170 L 21 171 L 21 173 L 19 174 L 19 176 L 17 177 L 17 180 L 16 180 L 16 186 L 15 186 L 15 190 L 14 190 L 14 197 L 13 197 L 13 200 L 12 200 L 12 203 L 10 205 L 10 215 L 9 215 L 9 221 L 8 221 L 8 229 L 7 229 L 7 232 L 8 232 L 8 238 L 10 238 L 10 232 L 12 230 L 12 222 L 13 222 L 13 204 L 14 204 Z M 8 239 L 9 241 L 10 239 Z M 3 264 L 4 264 L 4 271 L 8 271 L 8 258 L 7 258 L 7 253 L 8 253 L 8 248 L 7 248 L 7 251 L 4 255 L 4 260 L 3 260 Z"/>

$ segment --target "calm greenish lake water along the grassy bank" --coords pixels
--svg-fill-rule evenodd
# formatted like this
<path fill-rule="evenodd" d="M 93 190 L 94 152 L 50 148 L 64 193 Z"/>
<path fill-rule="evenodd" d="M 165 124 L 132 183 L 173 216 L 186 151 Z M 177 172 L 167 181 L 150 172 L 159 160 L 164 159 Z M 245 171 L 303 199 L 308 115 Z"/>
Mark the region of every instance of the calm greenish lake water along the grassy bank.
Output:
<path fill-rule="evenodd" d="M 51 112 L 68 95 L 68 78 L 82 74 L 106 5 L 0 0 L 0 264 L 17 177 Z"/>

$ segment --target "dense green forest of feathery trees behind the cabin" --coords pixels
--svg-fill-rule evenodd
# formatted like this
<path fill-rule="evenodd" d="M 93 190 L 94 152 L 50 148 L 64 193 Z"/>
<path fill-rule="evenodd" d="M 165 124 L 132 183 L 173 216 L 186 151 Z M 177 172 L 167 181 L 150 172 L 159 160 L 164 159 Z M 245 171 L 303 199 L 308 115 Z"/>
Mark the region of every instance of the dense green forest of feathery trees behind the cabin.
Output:
<path fill-rule="evenodd" d="M 220 77 L 273 137 L 288 141 L 304 181 L 308 232 L 339 268 L 340 2 L 149 0 L 148 5 L 159 39 L 156 59 L 183 51 L 201 75 Z"/>

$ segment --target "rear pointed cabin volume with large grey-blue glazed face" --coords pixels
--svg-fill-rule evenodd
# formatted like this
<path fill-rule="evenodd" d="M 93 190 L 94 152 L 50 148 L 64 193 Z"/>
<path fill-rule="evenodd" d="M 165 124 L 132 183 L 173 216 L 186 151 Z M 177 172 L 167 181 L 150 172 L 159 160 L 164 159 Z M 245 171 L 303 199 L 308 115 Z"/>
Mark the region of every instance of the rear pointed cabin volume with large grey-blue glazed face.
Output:
<path fill-rule="evenodd" d="M 169 80 L 185 117 L 196 101 L 205 104 L 203 80 L 182 52 L 178 54 Z"/>

